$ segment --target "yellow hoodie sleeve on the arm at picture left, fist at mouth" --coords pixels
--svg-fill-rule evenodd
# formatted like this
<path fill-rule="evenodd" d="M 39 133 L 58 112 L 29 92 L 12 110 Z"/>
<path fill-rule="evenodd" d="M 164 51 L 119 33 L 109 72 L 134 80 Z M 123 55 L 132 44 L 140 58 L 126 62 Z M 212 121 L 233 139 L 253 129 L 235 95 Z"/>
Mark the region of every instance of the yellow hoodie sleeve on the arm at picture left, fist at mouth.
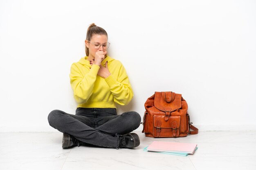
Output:
<path fill-rule="evenodd" d="M 98 71 L 99 65 L 94 64 L 90 71 L 83 75 L 75 63 L 71 65 L 70 84 L 76 102 L 85 103 L 90 98 Z"/>

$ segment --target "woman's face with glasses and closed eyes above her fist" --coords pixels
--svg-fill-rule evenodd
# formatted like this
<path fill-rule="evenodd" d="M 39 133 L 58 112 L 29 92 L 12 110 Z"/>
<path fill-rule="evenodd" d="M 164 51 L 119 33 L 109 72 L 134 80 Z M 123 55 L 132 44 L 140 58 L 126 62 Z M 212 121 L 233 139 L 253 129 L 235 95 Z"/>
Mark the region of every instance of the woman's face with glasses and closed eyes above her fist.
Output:
<path fill-rule="evenodd" d="M 103 49 L 102 46 L 100 46 L 99 49 L 95 48 L 94 44 L 106 44 L 108 42 L 108 37 L 106 35 L 100 35 L 100 34 L 95 34 L 92 35 L 92 38 L 90 42 L 88 40 L 85 40 L 85 46 L 89 49 L 89 57 L 94 57 L 95 58 L 95 52 L 97 51 L 107 51 L 107 49 Z"/>

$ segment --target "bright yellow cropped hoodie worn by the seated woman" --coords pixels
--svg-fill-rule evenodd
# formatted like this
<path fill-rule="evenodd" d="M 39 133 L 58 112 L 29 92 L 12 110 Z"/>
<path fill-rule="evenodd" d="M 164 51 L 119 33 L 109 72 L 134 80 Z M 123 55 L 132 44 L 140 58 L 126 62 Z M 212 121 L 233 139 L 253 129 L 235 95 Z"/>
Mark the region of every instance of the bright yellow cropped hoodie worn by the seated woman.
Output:
<path fill-rule="evenodd" d="M 127 105 L 132 100 L 133 92 L 122 63 L 107 56 L 101 65 L 105 67 L 108 61 L 111 75 L 102 78 L 97 75 L 99 65 L 90 65 L 87 58 L 83 57 L 71 65 L 70 84 L 79 103 L 77 107 L 116 108 L 115 103 Z"/>

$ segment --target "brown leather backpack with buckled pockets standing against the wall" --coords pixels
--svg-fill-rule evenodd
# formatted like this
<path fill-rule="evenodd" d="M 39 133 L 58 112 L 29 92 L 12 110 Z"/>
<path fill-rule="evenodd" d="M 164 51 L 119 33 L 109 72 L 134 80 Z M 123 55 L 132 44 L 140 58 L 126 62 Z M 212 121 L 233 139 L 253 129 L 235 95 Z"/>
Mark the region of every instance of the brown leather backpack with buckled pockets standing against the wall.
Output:
<path fill-rule="evenodd" d="M 145 102 L 145 109 L 142 133 L 147 137 L 185 137 L 188 134 L 198 134 L 198 129 L 190 122 L 188 105 L 181 94 L 155 92 Z"/>

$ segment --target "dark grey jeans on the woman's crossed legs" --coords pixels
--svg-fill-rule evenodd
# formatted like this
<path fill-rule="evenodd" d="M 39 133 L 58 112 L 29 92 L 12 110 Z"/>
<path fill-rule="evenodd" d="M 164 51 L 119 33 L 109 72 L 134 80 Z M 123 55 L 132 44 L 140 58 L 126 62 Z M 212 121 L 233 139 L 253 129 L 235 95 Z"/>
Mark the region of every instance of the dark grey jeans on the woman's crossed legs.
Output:
<path fill-rule="evenodd" d="M 137 129 L 139 113 L 128 111 L 117 115 L 111 108 L 77 108 L 76 115 L 53 110 L 49 113 L 50 126 L 74 136 L 81 142 L 107 148 L 118 148 L 120 135 Z"/>

